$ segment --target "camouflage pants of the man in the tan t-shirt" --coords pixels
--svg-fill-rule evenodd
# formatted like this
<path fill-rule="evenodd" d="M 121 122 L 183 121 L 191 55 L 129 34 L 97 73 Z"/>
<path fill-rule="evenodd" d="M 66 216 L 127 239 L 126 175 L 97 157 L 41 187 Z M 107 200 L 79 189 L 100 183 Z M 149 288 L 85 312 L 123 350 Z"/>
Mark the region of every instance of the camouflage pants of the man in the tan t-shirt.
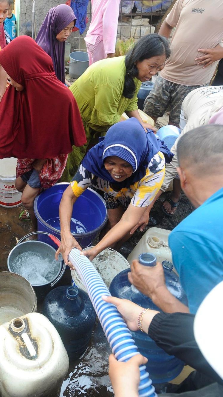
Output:
<path fill-rule="evenodd" d="M 204 85 L 204 87 L 206 85 Z M 144 112 L 148 114 L 148 116 L 158 118 L 162 117 L 167 108 L 169 108 L 169 122 L 179 126 L 181 105 L 185 96 L 190 93 L 190 91 L 199 87 L 202 86 L 171 83 L 171 81 L 158 76 L 152 91 L 150 91 L 150 94 L 145 99 Z"/>

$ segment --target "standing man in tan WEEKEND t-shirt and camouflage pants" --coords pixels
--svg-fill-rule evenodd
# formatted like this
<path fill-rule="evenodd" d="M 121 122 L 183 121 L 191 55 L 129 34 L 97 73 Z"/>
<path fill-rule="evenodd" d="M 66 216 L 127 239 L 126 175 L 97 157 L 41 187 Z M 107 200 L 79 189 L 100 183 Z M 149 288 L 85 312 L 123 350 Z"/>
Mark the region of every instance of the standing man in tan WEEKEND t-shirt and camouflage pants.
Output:
<path fill-rule="evenodd" d="M 144 102 L 156 123 L 170 108 L 169 124 L 179 127 L 181 104 L 192 90 L 210 83 L 223 58 L 223 0 L 177 0 L 159 34 L 171 40 L 171 56 Z"/>

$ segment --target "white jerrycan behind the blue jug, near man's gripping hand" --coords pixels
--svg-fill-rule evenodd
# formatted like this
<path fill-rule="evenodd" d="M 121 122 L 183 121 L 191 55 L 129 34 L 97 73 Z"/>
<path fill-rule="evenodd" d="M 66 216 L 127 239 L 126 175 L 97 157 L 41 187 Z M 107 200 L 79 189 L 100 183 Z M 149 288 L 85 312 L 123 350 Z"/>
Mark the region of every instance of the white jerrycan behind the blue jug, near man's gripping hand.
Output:
<path fill-rule="evenodd" d="M 138 244 L 135 246 L 127 261 L 131 265 L 134 259 L 138 259 L 139 255 L 144 252 L 151 252 L 156 256 L 157 262 L 168 260 L 172 263 L 172 254 L 168 245 L 168 237 L 171 230 L 160 229 L 159 227 L 151 227 L 142 236 Z"/>

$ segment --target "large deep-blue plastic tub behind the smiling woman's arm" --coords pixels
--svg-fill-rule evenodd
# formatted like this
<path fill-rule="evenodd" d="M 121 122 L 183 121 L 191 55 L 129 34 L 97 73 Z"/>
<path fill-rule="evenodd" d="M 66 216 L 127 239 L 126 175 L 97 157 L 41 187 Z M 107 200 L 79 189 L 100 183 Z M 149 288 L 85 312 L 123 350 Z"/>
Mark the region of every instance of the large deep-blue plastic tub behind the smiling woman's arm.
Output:
<path fill-rule="evenodd" d="M 59 206 L 69 183 L 56 183 L 35 198 L 34 212 L 38 231 L 46 231 L 60 239 Z M 92 189 L 87 189 L 73 206 L 71 233 L 81 247 L 89 247 L 96 234 L 107 222 L 107 209 L 103 198 Z M 77 222 L 76 222 L 77 221 Z M 76 232 L 75 232 L 76 231 Z M 44 237 L 40 237 L 44 241 Z M 52 247 L 56 245 L 52 242 Z"/>

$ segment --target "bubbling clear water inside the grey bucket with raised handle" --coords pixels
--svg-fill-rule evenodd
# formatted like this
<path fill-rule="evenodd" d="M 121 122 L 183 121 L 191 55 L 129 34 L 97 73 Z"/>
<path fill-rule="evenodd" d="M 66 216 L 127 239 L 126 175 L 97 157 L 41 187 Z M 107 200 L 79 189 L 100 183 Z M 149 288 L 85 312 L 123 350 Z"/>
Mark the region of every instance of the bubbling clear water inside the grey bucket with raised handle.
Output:
<path fill-rule="evenodd" d="M 42 285 L 56 278 L 59 264 L 56 259 L 52 261 L 35 252 L 26 251 L 16 256 L 11 270 L 27 279 L 31 285 Z"/>

